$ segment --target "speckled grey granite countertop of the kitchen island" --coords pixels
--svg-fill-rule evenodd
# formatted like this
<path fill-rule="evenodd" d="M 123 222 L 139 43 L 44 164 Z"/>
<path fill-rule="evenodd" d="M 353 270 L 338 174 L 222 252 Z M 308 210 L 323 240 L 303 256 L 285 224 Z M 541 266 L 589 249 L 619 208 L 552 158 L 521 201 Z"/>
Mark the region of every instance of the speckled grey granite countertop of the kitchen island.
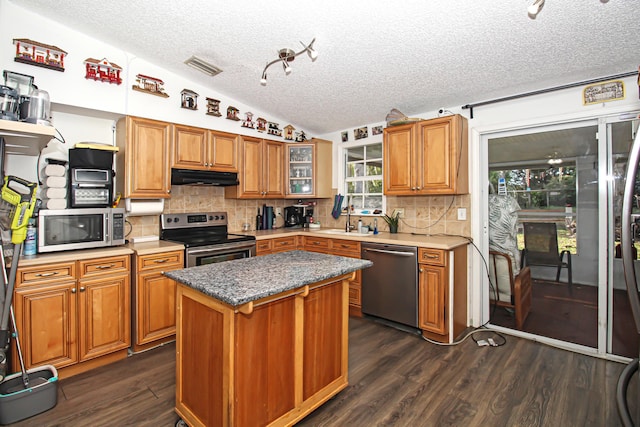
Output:
<path fill-rule="evenodd" d="M 372 265 L 363 259 L 290 251 L 167 271 L 164 275 L 235 307 Z"/>

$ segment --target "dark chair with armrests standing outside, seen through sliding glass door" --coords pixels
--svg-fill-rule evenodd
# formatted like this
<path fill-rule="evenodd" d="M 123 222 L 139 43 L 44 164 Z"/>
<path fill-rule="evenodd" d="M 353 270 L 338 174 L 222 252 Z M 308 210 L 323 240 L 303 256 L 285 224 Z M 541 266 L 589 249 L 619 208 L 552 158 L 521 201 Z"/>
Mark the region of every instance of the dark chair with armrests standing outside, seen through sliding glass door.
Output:
<path fill-rule="evenodd" d="M 524 249 L 522 265 L 541 265 L 556 267 L 556 282 L 560 273 L 567 269 L 567 283 L 573 285 L 571 253 L 558 248 L 558 229 L 555 222 L 523 222 Z M 566 261 L 565 259 L 566 255 Z"/>

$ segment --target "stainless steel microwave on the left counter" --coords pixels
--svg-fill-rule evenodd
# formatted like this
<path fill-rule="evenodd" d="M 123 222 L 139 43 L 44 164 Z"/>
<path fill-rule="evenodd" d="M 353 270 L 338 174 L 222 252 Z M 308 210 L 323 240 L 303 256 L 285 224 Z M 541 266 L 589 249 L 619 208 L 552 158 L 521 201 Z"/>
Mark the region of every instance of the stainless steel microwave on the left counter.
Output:
<path fill-rule="evenodd" d="M 42 209 L 38 252 L 124 245 L 123 208 Z"/>

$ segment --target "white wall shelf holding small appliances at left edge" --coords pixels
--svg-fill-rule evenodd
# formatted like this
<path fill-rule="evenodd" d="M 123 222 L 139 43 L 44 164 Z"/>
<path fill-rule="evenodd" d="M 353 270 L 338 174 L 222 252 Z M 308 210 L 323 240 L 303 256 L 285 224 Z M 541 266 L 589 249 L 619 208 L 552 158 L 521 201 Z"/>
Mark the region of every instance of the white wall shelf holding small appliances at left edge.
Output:
<path fill-rule="evenodd" d="M 5 154 L 37 156 L 55 134 L 53 126 L 0 120 L 0 138 L 5 140 Z"/>

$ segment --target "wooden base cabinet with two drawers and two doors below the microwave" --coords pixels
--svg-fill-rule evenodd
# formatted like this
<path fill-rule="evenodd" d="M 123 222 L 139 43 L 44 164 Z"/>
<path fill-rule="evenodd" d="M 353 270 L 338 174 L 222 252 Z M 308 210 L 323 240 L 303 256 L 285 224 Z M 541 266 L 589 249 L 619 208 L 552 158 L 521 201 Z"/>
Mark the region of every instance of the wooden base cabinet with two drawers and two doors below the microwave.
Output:
<path fill-rule="evenodd" d="M 19 268 L 14 307 L 26 367 L 71 375 L 126 357 L 129 274 L 129 255 Z"/>

